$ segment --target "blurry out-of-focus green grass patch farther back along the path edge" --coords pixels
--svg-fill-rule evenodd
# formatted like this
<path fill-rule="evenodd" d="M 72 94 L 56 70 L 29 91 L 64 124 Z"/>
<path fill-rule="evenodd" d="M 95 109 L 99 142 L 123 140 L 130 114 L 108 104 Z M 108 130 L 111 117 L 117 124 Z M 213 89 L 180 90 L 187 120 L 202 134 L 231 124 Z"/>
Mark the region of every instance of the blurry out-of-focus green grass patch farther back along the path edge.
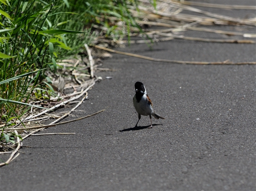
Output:
<path fill-rule="evenodd" d="M 138 6 L 136 0 L 71 0 L 69 2 L 72 10 L 78 11 L 81 15 L 87 15 L 84 18 L 87 26 L 94 30 L 104 29 L 102 33 L 106 38 L 127 35 L 130 39 L 131 27 L 141 31 L 129 11 L 130 6 Z M 119 25 L 117 21 L 120 21 Z M 123 28 L 120 28 L 120 25 Z"/>

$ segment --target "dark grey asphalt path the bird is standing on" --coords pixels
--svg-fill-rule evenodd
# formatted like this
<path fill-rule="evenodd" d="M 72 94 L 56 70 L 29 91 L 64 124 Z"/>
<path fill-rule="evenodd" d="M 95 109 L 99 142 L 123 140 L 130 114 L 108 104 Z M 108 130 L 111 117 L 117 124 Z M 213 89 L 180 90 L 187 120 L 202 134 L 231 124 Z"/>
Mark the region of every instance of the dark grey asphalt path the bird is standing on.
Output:
<path fill-rule="evenodd" d="M 255 14 L 243 10 L 235 15 L 251 12 Z M 256 61 L 255 44 L 172 40 L 152 50 L 145 44 L 116 50 L 171 60 Z M 113 78 L 96 83 L 78 108 L 84 111 L 74 114 L 106 110 L 44 131 L 75 135 L 24 140 L 30 147 L 0 168 L 1 191 L 256 189 L 255 65 L 166 64 L 112 55 L 104 67 L 121 70 L 98 73 Z M 152 119 L 152 129 L 147 128 L 148 116 L 133 128 L 138 120 L 132 102 L 136 81 L 144 83 L 154 110 L 165 118 Z"/>

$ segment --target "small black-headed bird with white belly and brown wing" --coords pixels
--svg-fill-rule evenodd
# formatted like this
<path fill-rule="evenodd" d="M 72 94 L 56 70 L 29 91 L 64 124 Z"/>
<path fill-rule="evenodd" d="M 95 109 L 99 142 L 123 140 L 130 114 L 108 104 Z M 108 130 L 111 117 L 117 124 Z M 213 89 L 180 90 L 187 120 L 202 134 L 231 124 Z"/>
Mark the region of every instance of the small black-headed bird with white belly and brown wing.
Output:
<path fill-rule="evenodd" d="M 141 115 L 145 115 L 145 116 L 149 115 L 151 126 L 148 128 L 152 128 L 151 115 L 154 116 L 154 118 L 156 119 L 159 119 L 159 118 L 164 119 L 164 118 L 158 115 L 156 112 L 154 112 L 153 104 L 147 95 L 147 91 L 143 83 L 137 81 L 135 83 L 135 91 L 136 91 L 136 94 L 133 97 L 133 105 L 135 110 L 138 113 L 138 117 L 139 119 L 141 119 Z M 139 123 L 139 120 L 136 123 L 135 127 L 137 127 L 138 123 Z"/>

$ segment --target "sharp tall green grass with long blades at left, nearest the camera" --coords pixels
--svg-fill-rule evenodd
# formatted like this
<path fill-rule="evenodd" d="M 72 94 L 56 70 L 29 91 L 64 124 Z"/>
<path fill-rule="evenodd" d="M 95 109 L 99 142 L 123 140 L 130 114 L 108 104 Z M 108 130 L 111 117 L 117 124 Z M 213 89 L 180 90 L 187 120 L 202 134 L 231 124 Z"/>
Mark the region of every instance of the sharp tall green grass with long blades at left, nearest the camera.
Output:
<path fill-rule="evenodd" d="M 54 46 L 71 49 L 64 33 L 47 17 L 54 3 L 32 0 L 1 0 L 0 16 L 0 112 L 2 121 L 18 118 L 28 108 L 24 103 L 32 97 L 43 97 L 42 81 L 46 69 L 55 71 L 58 52 Z M 63 3 L 63 2 L 62 2 Z"/>

